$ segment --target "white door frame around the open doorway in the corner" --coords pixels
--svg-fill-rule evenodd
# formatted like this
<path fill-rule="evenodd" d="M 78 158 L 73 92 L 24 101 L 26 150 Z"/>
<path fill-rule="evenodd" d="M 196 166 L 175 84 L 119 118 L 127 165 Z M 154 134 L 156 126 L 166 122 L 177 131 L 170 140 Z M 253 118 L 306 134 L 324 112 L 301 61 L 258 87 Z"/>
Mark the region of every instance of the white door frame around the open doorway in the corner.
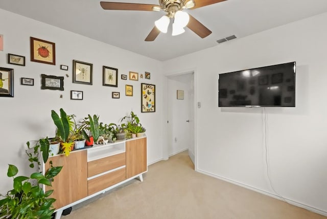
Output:
<path fill-rule="evenodd" d="M 174 77 L 174 76 L 179 76 L 179 75 L 183 75 L 183 74 L 190 74 L 193 73 L 193 80 L 194 80 L 194 104 L 193 104 L 193 111 L 194 111 L 194 168 L 195 171 L 197 171 L 198 167 L 197 167 L 197 154 L 198 154 L 198 141 L 197 141 L 197 82 L 196 82 L 196 70 L 195 69 L 191 69 L 191 70 L 187 70 L 187 71 L 183 71 L 183 72 L 178 72 L 178 73 L 172 73 L 172 74 L 167 74 L 165 75 L 165 80 L 164 80 L 164 87 L 166 91 L 168 91 L 168 78 L 170 77 Z M 162 159 L 163 160 L 168 160 L 169 159 L 169 155 L 168 155 L 168 125 L 167 125 L 167 121 L 168 121 L 168 96 L 167 96 L 168 92 L 165 92 L 165 94 L 163 95 L 164 98 L 164 104 L 163 104 L 163 112 L 164 112 L 164 122 L 162 124 L 164 124 L 165 126 L 163 127 L 162 130 L 164 130 L 163 133 L 163 140 L 164 140 L 164 144 L 163 144 L 163 150 L 162 150 Z"/>

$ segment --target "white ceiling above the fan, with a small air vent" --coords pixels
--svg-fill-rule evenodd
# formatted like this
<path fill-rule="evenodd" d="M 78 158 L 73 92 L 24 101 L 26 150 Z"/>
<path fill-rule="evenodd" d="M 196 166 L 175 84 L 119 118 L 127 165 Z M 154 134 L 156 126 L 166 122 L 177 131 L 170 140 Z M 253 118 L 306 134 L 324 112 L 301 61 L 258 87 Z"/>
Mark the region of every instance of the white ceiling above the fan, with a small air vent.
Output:
<path fill-rule="evenodd" d="M 156 0 L 112 2 L 158 4 Z M 95 0 L 1 0 L 0 8 L 164 61 L 214 47 L 223 37 L 241 38 L 327 12 L 327 1 L 227 0 L 185 10 L 213 32 L 206 38 L 187 28 L 185 33 L 171 36 L 170 25 L 168 33 L 160 33 L 153 42 L 144 39 L 164 12 L 103 10 Z"/>

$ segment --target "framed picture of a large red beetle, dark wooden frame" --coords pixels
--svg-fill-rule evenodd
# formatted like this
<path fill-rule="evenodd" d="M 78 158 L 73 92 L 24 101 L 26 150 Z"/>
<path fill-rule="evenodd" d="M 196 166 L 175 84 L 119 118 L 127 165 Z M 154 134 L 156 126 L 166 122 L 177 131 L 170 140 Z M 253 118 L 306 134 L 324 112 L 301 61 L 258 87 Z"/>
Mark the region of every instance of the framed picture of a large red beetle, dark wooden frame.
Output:
<path fill-rule="evenodd" d="M 56 64 L 56 44 L 43 39 L 30 37 L 31 61 Z"/>

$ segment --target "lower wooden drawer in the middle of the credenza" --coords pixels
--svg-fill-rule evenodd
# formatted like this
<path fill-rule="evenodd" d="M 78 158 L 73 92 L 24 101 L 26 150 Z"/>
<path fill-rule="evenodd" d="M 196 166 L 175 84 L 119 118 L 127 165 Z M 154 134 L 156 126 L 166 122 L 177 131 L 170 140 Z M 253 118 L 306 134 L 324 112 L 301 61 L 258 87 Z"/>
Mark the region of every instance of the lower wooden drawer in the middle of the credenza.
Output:
<path fill-rule="evenodd" d="M 88 195 L 94 194 L 114 184 L 126 180 L 126 168 L 118 169 L 87 181 Z"/>

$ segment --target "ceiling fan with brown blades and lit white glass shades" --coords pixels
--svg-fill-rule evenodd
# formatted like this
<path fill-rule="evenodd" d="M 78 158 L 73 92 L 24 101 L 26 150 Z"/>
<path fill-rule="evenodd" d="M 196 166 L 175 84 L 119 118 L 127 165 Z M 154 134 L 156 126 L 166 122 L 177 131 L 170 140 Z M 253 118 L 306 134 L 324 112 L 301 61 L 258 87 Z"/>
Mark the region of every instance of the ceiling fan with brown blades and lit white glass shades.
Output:
<path fill-rule="evenodd" d="M 118 2 L 100 2 L 105 10 L 128 10 L 128 11 L 165 11 L 166 15 L 155 21 L 155 26 L 145 39 L 153 41 L 160 32 L 167 33 L 170 18 L 173 18 L 173 33 L 178 35 L 183 33 L 184 27 L 188 27 L 194 33 L 204 38 L 212 33 L 203 24 L 192 15 L 183 12 L 183 9 L 196 9 L 207 5 L 212 5 L 226 0 L 159 0 L 159 5 L 118 3 Z"/>

